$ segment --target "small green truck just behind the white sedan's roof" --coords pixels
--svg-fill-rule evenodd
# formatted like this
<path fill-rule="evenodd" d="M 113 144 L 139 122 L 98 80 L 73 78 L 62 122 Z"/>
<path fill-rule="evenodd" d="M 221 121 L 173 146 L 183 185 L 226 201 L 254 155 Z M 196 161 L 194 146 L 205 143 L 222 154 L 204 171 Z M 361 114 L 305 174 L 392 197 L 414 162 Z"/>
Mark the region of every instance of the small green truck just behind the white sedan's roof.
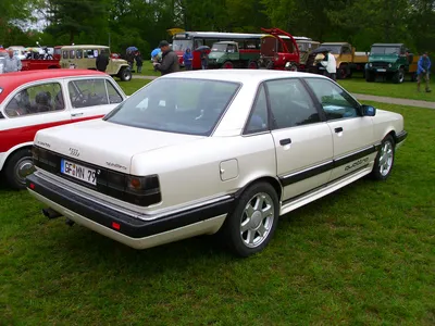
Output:
<path fill-rule="evenodd" d="M 260 51 L 240 50 L 235 41 L 214 42 L 209 53 L 209 68 L 257 68 Z"/>

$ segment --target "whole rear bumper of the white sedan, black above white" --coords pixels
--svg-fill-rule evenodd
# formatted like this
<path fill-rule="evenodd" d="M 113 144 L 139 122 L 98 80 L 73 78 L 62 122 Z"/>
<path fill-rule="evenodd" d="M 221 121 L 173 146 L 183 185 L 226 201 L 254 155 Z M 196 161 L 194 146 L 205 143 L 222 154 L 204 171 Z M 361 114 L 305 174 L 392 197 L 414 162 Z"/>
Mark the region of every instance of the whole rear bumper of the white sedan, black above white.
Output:
<path fill-rule="evenodd" d="M 226 198 L 145 221 L 64 189 L 37 174 L 27 177 L 27 188 L 32 196 L 65 217 L 135 249 L 216 233 L 234 203 L 233 198 Z"/>

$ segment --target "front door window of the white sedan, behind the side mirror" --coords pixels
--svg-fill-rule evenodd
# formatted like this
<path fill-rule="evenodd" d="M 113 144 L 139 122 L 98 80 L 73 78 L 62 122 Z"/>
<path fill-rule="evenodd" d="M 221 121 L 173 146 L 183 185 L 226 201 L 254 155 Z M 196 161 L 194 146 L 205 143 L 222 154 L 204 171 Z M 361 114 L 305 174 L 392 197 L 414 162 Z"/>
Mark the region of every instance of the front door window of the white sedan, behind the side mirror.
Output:
<path fill-rule="evenodd" d="M 327 120 L 359 116 L 359 104 L 330 79 L 307 78 L 306 82 L 322 104 Z"/>

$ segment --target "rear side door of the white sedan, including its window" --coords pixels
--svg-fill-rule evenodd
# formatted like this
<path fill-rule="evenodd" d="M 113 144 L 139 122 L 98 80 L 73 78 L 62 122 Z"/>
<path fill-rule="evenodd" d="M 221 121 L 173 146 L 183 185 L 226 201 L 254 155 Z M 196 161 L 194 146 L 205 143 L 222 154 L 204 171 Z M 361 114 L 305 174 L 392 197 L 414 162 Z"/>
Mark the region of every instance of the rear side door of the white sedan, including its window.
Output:
<path fill-rule="evenodd" d="M 277 175 L 283 200 L 312 190 L 330 180 L 333 140 L 310 95 L 296 78 L 265 83 L 272 114 Z"/>

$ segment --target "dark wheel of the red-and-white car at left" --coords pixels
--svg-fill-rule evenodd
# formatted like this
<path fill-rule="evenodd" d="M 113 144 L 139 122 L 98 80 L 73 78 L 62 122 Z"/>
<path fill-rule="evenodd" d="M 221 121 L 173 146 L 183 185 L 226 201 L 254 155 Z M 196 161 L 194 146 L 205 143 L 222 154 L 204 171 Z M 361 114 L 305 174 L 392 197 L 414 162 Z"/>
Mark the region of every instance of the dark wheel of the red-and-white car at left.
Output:
<path fill-rule="evenodd" d="M 16 190 L 26 188 L 26 176 L 34 172 L 32 151 L 29 148 L 14 152 L 4 166 L 7 183 Z"/>

